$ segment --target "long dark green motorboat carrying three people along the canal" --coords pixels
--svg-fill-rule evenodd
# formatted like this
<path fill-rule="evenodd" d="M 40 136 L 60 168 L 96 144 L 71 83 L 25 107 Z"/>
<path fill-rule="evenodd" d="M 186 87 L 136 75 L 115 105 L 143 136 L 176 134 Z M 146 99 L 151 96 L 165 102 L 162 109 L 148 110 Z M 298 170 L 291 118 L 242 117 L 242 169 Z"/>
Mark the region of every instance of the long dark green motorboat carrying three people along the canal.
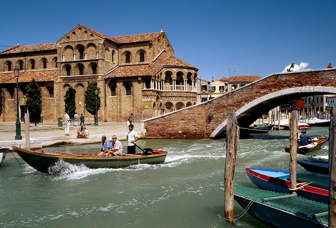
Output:
<path fill-rule="evenodd" d="M 165 161 L 167 152 L 152 150 L 151 154 L 144 153 L 124 154 L 124 156 L 98 157 L 97 154 L 68 154 L 68 153 L 45 153 L 34 150 L 25 150 L 13 146 L 16 153 L 34 169 L 49 173 L 49 168 L 62 159 L 75 165 L 85 165 L 88 168 L 120 168 L 136 164 L 159 164 Z"/>

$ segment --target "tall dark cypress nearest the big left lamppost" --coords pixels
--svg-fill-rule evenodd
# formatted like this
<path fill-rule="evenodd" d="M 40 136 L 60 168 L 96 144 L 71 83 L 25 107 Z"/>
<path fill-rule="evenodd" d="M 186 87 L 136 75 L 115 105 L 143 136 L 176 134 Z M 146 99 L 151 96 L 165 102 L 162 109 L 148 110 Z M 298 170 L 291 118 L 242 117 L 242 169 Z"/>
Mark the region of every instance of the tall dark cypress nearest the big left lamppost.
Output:
<path fill-rule="evenodd" d="M 27 86 L 27 108 L 29 112 L 29 122 L 35 123 L 36 126 L 37 123 L 40 123 L 41 121 L 42 108 L 41 88 L 34 78 L 32 78 Z"/>

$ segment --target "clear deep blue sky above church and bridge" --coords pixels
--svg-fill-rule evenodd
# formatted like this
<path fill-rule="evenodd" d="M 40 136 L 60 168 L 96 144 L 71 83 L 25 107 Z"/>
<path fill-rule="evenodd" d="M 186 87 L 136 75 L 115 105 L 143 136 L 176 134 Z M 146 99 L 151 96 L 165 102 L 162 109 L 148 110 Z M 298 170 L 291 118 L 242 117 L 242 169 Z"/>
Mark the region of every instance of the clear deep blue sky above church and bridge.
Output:
<path fill-rule="evenodd" d="M 7 1 L 0 45 L 53 43 L 79 23 L 109 36 L 165 31 L 202 79 L 336 67 L 336 1 Z M 7 47 L 0 46 L 0 51 Z M 304 64 L 306 65 L 306 64 Z"/>

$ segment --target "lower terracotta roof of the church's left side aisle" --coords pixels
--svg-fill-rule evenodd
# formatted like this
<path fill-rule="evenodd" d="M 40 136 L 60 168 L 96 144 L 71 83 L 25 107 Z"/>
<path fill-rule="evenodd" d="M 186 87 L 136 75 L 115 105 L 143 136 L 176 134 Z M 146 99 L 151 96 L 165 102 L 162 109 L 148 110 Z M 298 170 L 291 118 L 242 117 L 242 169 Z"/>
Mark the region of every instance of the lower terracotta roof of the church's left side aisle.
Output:
<path fill-rule="evenodd" d="M 57 77 L 57 70 L 38 70 L 38 71 L 25 71 L 20 72 L 18 78 L 19 82 L 29 82 L 32 78 L 37 82 L 50 82 L 55 81 Z M 16 83 L 14 72 L 0 73 L 0 83 Z"/>

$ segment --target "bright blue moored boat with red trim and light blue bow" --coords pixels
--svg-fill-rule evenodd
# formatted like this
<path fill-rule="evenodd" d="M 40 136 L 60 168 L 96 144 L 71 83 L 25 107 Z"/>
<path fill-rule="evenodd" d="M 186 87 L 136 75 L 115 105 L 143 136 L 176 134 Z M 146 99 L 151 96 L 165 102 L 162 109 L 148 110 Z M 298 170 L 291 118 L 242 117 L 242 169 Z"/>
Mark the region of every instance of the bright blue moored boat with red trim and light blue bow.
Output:
<path fill-rule="evenodd" d="M 246 168 L 248 177 L 258 187 L 279 193 L 289 194 L 290 177 L 288 170 Z M 298 196 L 328 204 L 329 176 L 312 172 L 296 173 Z M 302 183 L 302 184 L 301 184 Z M 304 183 L 308 183 L 305 185 Z"/>

